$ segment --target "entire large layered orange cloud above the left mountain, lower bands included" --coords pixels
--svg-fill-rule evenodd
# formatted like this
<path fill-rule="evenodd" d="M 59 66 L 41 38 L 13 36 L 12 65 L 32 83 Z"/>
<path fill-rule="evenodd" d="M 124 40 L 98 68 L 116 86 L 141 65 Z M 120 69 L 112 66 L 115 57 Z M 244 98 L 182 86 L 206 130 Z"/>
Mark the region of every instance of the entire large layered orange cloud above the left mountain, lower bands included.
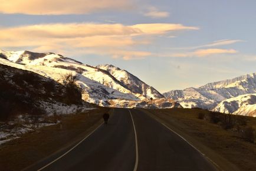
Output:
<path fill-rule="evenodd" d="M 198 29 L 182 24 L 40 24 L 0 28 L 0 47 L 31 47 L 35 51 L 67 51 L 109 55 L 123 60 L 152 55 L 137 51 L 140 45 L 152 44 L 152 37 L 170 31 Z M 142 36 L 143 35 L 143 36 Z"/>

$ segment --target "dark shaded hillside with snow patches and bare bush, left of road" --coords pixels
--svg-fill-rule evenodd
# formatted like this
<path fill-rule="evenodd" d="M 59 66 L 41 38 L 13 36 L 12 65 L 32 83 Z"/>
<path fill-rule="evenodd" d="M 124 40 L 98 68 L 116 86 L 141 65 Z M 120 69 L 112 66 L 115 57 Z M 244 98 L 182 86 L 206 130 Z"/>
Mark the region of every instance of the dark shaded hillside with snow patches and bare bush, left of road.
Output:
<path fill-rule="evenodd" d="M 50 77 L 0 64 L 0 145 L 61 123 L 64 114 L 94 108 L 82 100 L 78 79 L 78 75 L 65 74 L 60 84 Z"/>

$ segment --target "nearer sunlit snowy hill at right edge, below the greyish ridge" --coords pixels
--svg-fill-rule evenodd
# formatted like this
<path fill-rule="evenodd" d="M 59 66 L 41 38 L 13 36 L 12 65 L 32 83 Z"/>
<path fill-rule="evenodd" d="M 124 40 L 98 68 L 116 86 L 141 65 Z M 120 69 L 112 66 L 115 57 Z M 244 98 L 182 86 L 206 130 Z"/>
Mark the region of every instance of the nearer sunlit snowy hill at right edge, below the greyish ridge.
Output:
<path fill-rule="evenodd" d="M 221 113 L 232 113 L 256 117 L 256 94 L 244 94 L 221 101 L 214 108 Z"/>

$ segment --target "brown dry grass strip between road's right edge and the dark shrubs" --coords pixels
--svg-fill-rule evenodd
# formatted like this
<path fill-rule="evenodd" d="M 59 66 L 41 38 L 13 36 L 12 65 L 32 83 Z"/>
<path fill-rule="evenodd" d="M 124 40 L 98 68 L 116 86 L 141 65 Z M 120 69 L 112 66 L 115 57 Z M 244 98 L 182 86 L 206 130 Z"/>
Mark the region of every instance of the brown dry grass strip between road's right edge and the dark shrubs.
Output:
<path fill-rule="evenodd" d="M 200 109 L 145 110 L 150 116 L 189 140 L 224 170 L 256 170 L 256 144 L 242 140 L 238 133 L 198 119 Z M 256 118 L 247 117 L 247 126 L 256 128 Z"/>

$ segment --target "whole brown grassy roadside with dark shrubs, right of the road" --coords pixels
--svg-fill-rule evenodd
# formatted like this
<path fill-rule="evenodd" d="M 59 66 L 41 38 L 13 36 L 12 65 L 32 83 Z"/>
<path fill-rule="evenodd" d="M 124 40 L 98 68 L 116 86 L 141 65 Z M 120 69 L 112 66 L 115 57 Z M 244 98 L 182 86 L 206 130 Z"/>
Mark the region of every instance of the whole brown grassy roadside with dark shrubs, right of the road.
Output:
<path fill-rule="evenodd" d="M 221 158 L 238 170 L 255 170 L 256 118 L 200 108 L 142 110 L 185 137 L 224 170 L 230 167 Z"/>

